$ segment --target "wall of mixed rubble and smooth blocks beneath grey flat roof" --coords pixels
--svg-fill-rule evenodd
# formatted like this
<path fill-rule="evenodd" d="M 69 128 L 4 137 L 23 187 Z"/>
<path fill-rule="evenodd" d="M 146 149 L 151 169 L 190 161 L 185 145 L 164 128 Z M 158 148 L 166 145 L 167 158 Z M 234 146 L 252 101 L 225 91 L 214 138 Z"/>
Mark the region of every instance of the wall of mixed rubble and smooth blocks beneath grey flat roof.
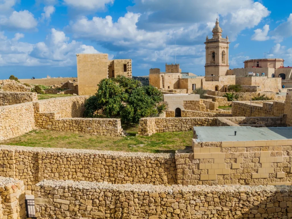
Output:
<path fill-rule="evenodd" d="M 223 142 L 193 139 L 193 151 L 175 154 L 177 183 L 292 185 L 291 145 L 291 139 Z"/>

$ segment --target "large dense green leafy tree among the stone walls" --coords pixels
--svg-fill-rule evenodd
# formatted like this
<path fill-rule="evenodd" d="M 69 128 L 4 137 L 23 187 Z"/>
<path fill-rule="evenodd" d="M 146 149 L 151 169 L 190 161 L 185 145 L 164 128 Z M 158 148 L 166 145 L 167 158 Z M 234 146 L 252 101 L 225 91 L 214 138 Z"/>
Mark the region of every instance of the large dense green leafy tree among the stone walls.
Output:
<path fill-rule="evenodd" d="M 166 109 L 162 93 L 155 87 L 124 76 L 102 79 L 98 91 L 85 102 L 85 117 L 121 117 L 125 123 L 138 123 L 142 117 L 153 117 Z"/>

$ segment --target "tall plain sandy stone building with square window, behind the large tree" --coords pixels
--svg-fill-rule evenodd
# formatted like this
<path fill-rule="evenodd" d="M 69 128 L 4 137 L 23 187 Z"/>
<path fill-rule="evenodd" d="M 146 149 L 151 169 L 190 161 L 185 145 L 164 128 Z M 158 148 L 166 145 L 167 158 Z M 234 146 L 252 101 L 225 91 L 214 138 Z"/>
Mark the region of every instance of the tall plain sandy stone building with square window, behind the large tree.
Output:
<path fill-rule="evenodd" d="M 109 60 L 108 54 L 77 54 L 78 94 L 93 95 L 104 78 L 132 77 L 132 60 Z"/>

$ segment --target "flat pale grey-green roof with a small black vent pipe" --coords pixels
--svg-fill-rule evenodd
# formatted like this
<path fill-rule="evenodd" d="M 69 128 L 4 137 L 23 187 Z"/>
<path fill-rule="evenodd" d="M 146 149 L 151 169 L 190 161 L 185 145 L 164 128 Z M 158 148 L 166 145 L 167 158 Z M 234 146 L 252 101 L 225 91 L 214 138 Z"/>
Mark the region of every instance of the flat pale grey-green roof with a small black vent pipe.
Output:
<path fill-rule="evenodd" d="M 195 126 L 194 131 L 197 134 L 197 142 L 292 139 L 292 127 Z M 237 131 L 236 136 L 234 131 Z"/>

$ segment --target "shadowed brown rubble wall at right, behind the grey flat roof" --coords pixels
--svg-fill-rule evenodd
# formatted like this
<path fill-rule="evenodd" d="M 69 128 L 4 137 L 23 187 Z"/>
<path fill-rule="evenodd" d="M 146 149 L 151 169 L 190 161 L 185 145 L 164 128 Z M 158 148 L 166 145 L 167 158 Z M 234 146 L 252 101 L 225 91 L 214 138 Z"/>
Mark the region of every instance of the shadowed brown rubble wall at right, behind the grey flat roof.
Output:
<path fill-rule="evenodd" d="M 244 117 L 275 117 L 284 114 L 284 102 L 233 101 L 232 115 Z"/>

